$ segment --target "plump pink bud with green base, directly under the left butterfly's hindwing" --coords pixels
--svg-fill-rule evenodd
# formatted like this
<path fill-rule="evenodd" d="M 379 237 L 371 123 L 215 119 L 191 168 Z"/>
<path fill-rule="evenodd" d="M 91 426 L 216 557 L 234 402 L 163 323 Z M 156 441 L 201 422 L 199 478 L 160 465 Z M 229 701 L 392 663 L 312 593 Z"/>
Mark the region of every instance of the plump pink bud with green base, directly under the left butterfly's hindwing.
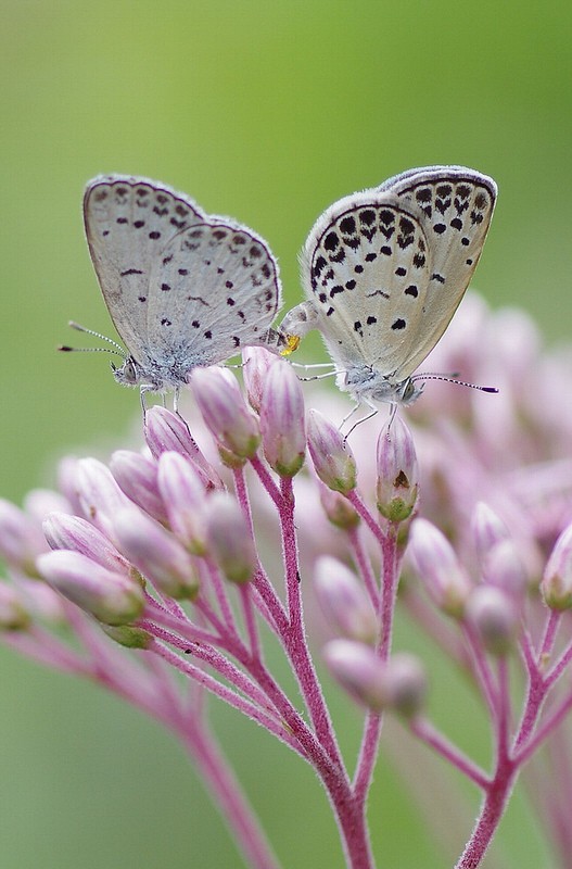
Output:
<path fill-rule="evenodd" d="M 204 421 L 223 448 L 223 461 L 232 466 L 252 458 L 260 442 L 258 421 L 232 374 L 227 368 L 195 368 L 191 388 Z"/>

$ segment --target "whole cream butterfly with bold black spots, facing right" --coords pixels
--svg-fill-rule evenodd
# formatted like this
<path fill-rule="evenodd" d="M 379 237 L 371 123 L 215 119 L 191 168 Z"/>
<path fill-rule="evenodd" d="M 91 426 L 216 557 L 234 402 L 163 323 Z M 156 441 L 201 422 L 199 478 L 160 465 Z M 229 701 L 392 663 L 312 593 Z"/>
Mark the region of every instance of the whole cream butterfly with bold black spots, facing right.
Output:
<path fill-rule="evenodd" d="M 474 169 L 427 166 L 334 202 L 302 251 L 308 301 L 280 329 L 298 339 L 318 329 L 358 404 L 410 404 L 422 391 L 414 374 L 476 268 L 496 194 Z"/>

